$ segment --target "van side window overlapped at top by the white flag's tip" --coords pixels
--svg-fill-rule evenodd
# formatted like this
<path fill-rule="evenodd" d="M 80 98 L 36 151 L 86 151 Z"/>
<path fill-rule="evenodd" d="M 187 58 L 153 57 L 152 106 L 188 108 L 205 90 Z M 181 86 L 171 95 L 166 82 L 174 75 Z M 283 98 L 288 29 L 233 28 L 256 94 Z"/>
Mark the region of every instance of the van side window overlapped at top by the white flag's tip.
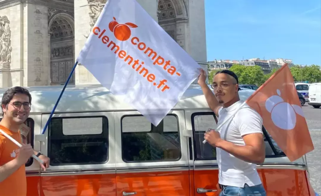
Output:
<path fill-rule="evenodd" d="M 124 162 L 177 161 L 181 157 L 174 115 L 167 115 L 157 127 L 144 116 L 124 116 L 121 129 Z"/>

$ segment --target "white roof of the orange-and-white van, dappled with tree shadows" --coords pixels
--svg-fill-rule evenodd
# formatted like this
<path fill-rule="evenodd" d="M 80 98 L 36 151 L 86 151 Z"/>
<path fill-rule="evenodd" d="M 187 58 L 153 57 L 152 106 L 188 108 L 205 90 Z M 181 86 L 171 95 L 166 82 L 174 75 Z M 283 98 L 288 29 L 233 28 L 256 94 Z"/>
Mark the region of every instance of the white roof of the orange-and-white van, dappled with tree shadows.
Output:
<path fill-rule="evenodd" d="M 31 112 L 51 113 L 63 86 L 26 87 L 32 96 Z M 0 98 L 7 88 L 0 88 Z M 240 99 L 245 101 L 255 92 L 250 89 L 239 91 Z M 190 85 L 173 110 L 206 108 L 209 106 L 199 85 Z M 55 112 L 136 110 L 119 96 L 101 85 L 68 85 Z"/>

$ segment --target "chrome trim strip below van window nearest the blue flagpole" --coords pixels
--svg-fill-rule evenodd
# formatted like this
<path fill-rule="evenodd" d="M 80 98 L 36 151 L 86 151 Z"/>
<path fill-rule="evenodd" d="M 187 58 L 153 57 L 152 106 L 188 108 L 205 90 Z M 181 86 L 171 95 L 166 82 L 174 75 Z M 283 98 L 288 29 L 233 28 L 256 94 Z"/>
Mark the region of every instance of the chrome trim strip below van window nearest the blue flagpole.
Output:
<path fill-rule="evenodd" d="M 116 170 L 91 170 L 91 171 L 57 171 L 57 172 L 41 172 L 40 176 L 74 176 L 74 175 L 92 175 L 92 174 L 116 174 Z"/>

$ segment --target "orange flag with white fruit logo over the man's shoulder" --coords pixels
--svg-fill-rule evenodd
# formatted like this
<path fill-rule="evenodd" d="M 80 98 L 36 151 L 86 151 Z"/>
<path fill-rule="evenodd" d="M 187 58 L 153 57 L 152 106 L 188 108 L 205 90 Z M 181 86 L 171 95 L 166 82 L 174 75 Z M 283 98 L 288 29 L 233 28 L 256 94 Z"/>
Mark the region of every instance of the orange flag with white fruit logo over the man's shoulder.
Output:
<path fill-rule="evenodd" d="M 247 99 L 282 151 L 294 161 L 314 150 L 294 80 L 284 64 Z"/>

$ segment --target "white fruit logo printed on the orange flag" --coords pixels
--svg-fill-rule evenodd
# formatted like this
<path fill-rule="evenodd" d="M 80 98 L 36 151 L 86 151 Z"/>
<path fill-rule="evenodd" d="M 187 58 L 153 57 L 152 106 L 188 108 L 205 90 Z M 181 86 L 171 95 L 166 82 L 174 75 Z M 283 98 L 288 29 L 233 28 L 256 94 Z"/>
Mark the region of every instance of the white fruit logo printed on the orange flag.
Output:
<path fill-rule="evenodd" d="M 278 95 L 272 95 L 265 101 L 265 108 L 271 113 L 271 119 L 275 126 L 291 130 L 296 124 L 296 114 L 304 117 L 302 108 L 299 105 L 284 102 L 279 89 Z"/>

